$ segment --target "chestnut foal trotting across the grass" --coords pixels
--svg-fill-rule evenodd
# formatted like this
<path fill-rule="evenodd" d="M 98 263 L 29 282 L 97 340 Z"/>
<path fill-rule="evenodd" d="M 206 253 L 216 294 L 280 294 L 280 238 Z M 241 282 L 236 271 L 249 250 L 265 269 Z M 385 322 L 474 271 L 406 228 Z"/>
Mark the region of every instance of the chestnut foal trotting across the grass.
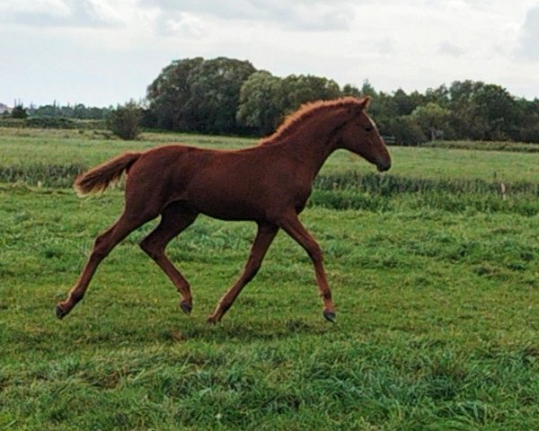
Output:
<path fill-rule="evenodd" d="M 299 221 L 313 181 L 333 151 L 345 148 L 387 171 L 391 158 L 376 125 L 367 116 L 370 100 L 342 98 L 305 104 L 259 145 L 235 151 L 166 145 L 144 153 L 124 153 L 75 180 L 80 194 L 102 191 L 128 172 L 125 207 L 118 221 L 95 240 L 93 251 L 66 301 L 57 304 L 63 318 L 83 299 L 95 270 L 129 233 L 161 216 L 140 242 L 143 251 L 171 279 L 180 307 L 192 309 L 190 285 L 165 255 L 165 247 L 202 213 L 222 220 L 252 220 L 258 231 L 241 277 L 217 303 L 208 321 L 216 323 L 261 268 L 270 243 L 283 229 L 308 253 L 323 298 L 323 316 L 335 320 L 331 290 L 318 243 Z"/>

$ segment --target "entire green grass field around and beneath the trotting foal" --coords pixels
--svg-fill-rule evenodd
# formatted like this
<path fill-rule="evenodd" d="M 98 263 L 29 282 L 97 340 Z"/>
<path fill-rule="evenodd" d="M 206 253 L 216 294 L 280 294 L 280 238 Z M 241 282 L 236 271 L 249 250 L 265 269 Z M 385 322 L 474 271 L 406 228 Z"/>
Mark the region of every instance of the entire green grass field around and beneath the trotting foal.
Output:
<path fill-rule="evenodd" d="M 305 252 L 279 233 L 209 326 L 255 228 L 207 217 L 169 247 L 190 317 L 137 246 L 148 224 L 57 321 L 122 205 L 118 189 L 76 198 L 77 170 L 171 141 L 252 140 L 0 132 L 0 429 L 539 429 L 539 154 L 395 147 L 384 176 L 334 154 L 302 216 L 334 325 Z"/>

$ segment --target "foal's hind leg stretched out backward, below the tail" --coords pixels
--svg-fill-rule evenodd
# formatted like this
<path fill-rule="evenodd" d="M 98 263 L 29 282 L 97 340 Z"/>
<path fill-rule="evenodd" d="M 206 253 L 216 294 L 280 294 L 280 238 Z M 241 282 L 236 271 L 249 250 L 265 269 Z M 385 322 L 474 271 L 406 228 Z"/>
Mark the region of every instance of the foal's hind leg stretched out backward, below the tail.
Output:
<path fill-rule="evenodd" d="M 69 292 L 66 301 L 57 304 L 57 317 L 62 319 L 69 313 L 76 303 L 84 297 L 86 289 L 90 285 L 95 270 L 105 259 L 110 251 L 129 233 L 133 232 L 137 227 L 145 224 L 154 216 L 133 216 L 132 212 L 124 212 L 119 220 L 110 226 L 109 230 L 102 233 L 95 239 L 93 251 L 90 258 L 86 262 L 83 272 L 77 280 L 75 286 Z"/>

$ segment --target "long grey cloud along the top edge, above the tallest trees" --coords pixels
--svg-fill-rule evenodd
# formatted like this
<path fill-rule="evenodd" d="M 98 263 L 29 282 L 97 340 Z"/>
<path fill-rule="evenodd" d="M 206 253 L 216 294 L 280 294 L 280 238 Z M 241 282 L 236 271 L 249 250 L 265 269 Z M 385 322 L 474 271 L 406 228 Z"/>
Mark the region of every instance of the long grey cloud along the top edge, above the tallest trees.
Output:
<path fill-rule="evenodd" d="M 349 0 L 139 0 L 143 6 L 155 7 L 163 13 L 208 15 L 226 21 L 263 22 L 296 31 L 348 30 L 354 18 Z"/>

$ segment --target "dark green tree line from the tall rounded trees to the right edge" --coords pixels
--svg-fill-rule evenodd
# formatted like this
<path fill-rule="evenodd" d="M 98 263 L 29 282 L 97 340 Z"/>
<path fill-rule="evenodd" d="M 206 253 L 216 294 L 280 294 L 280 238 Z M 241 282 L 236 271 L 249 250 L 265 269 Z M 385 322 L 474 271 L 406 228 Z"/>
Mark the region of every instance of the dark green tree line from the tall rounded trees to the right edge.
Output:
<path fill-rule="evenodd" d="M 539 99 L 497 84 L 456 81 L 421 92 L 378 92 L 366 81 L 340 87 L 313 75 L 278 77 L 226 57 L 173 61 L 147 89 L 146 126 L 202 133 L 270 134 L 302 103 L 371 96 L 383 135 L 414 145 L 433 138 L 539 143 Z"/>

